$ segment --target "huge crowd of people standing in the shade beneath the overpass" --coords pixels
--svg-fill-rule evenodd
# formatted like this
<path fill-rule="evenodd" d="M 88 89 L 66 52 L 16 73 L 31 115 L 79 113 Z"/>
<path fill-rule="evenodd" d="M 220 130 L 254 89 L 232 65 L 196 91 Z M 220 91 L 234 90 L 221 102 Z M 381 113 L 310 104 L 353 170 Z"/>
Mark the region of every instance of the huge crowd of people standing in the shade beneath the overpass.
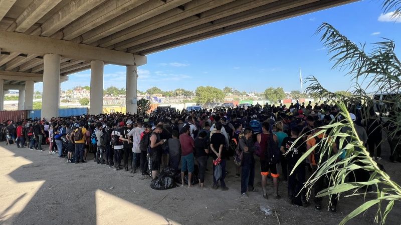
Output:
<path fill-rule="evenodd" d="M 356 110 L 356 109 L 355 109 Z M 374 112 L 363 118 L 358 111 L 350 113 L 359 138 L 368 146 L 371 156 L 381 159 L 381 130 L 384 125 L 376 119 Z M 359 110 L 359 109 L 358 109 Z M 17 147 L 27 146 L 30 150 L 43 151 L 49 144 L 49 153 L 66 158 L 66 162 L 85 163 L 88 152 L 94 153 L 94 161 L 106 164 L 114 170 L 124 169 L 131 173 L 139 171 L 142 176 L 156 178 L 160 170 L 170 167 L 184 176 L 198 178 L 199 188 L 205 188 L 208 163 L 213 159 L 213 189 L 228 190 L 225 177 L 235 172 L 241 177 L 242 196 L 249 191 L 258 191 L 255 172 L 261 173 L 262 196 L 268 198 L 269 174 L 273 180 L 273 198 L 281 198 L 279 182 L 288 181 L 288 202 L 307 207 L 305 190 L 306 177 L 318 165 L 320 157 L 315 148 L 305 163 L 291 175 L 301 155 L 319 143 L 327 133 L 320 127 L 336 119 L 338 109 L 326 102 L 312 105 L 311 102 L 290 106 L 256 105 L 234 108 L 202 109 L 198 111 L 159 110 L 150 114 L 99 114 L 70 117 L 34 118 L 19 121 L 4 121 L 0 140 Z M 346 130 L 343 130 L 346 132 Z M 296 140 L 301 137 L 304 141 Z M 393 141 L 393 140 L 389 140 Z M 295 145 L 293 145 L 293 143 Z M 391 143 L 390 143 L 391 145 Z M 337 152 L 333 145 L 333 152 Z M 399 160 L 399 150 L 391 149 L 390 160 Z M 279 153 L 277 153 L 279 152 Z M 255 168 L 259 160 L 260 168 Z M 228 164 L 235 164 L 235 171 Z M 197 165 L 198 172 L 195 172 Z M 219 165 L 221 175 L 215 177 Z M 234 170 L 234 169 L 233 169 Z M 279 172 L 281 171 L 281 173 Z M 324 177 L 314 184 L 315 210 L 321 210 L 321 197 L 317 193 L 327 187 Z M 191 182 L 188 182 L 188 187 Z M 301 191 L 301 194 L 298 194 Z M 282 193 L 281 193 L 282 194 Z M 330 198 L 329 210 L 336 212 L 336 198 Z"/>

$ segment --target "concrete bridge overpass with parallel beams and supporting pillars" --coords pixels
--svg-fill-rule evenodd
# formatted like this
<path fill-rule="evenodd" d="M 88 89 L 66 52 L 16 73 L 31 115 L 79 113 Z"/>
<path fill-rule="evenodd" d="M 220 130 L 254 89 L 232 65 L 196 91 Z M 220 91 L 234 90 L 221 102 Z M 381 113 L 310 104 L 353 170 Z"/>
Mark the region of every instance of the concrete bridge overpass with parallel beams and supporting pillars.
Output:
<path fill-rule="evenodd" d="M 125 65 L 127 112 L 136 112 L 137 66 L 146 54 L 356 0 L 0 0 L 0 109 L 20 89 L 42 117 L 57 116 L 60 82 L 91 69 L 90 113 L 102 112 L 103 66 Z"/>

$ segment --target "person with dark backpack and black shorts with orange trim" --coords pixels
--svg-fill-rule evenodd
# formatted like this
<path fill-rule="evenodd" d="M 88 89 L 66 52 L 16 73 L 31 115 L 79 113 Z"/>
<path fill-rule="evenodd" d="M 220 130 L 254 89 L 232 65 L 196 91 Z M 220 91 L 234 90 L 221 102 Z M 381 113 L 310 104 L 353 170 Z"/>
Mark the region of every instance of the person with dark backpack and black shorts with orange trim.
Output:
<path fill-rule="evenodd" d="M 272 163 L 271 162 L 271 156 L 268 154 L 268 148 L 269 145 L 271 146 L 276 146 L 278 149 L 278 138 L 275 134 L 270 133 L 270 123 L 269 122 L 263 122 L 262 123 L 262 133 L 259 133 L 256 136 L 256 139 L 259 142 L 259 148 L 260 148 L 260 173 L 262 175 L 262 189 L 263 189 L 263 197 L 268 198 L 267 195 L 267 176 L 270 174 L 273 178 L 273 187 L 274 187 L 274 199 L 279 199 L 281 196 L 278 194 L 278 189 L 279 189 L 279 184 L 278 184 L 278 177 L 280 176 L 278 171 L 277 171 L 277 162 Z M 273 141 L 274 143 L 271 143 Z M 280 150 L 279 150 L 280 151 Z"/>

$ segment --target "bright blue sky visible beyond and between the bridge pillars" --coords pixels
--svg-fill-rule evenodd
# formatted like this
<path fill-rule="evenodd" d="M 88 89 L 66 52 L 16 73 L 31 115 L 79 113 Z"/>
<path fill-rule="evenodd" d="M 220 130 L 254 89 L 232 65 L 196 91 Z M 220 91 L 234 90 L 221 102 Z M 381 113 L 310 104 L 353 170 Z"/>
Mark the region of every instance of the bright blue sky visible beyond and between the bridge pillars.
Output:
<path fill-rule="evenodd" d="M 401 44 L 401 19 L 390 21 L 382 15 L 380 2 L 358 1 L 149 54 L 148 63 L 138 67 L 138 89 L 194 90 L 213 85 L 245 91 L 282 86 L 291 91 L 300 89 L 301 67 L 303 77 L 314 75 L 329 90 L 345 90 L 350 78 L 331 69 L 320 36 L 313 34 L 322 22 L 328 22 L 354 42 L 372 43 L 386 37 Z M 396 53 L 400 55 L 399 47 Z M 104 73 L 105 88 L 125 87 L 125 66 L 106 65 Z M 69 75 L 61 88 L 89 84 L 90 70 L 86 70 Z M 35 88 L 41 90 L 42 83 Z"/>

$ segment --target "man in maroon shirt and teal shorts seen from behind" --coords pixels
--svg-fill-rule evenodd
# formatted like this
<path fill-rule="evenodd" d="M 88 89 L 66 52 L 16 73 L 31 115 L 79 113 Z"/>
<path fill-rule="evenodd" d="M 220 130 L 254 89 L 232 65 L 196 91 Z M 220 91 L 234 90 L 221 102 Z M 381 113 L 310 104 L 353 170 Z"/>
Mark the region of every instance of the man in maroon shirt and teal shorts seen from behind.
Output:
<path fill-rule="evenodd" d="M 184 126 L 182 132 L 183 133 L 179 135 L 179 142 L 181 143 L 181 186 L 184 186 L 184 173 L 188 171 L 188 187 L 190 187 L 193 172 L 193 148 L 195 147 L 195 143 L 193 138 L 189 135 L 189 125 Z"/>

